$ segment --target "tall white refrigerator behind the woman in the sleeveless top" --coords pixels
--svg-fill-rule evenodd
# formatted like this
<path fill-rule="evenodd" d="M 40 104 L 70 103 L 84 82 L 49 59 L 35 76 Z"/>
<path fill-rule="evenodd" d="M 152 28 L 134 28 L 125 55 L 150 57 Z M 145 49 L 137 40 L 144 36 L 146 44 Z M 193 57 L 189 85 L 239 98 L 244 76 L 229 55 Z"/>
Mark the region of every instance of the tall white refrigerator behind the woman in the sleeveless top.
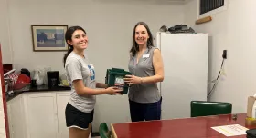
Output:
<path fill-rule="evenodd" d="M 158 83 L 162 119 L 190 117 L 190 101 L 207 100 L 208 34 L 156 34 L 165 79 Z"/>

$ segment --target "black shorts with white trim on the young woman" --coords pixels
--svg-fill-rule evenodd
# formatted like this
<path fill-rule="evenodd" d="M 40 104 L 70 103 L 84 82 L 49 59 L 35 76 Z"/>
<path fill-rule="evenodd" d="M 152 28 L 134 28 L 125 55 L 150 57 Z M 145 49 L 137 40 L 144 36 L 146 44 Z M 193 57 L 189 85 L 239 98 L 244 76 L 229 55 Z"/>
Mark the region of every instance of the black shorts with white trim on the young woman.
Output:
<path fill-rule="evenodd" d="M 91 113 L 81 112 L 68 103 L 65 111 L 67 127 L 87 129 L 89 123 L 92 123 L 93 121 L 93 112 L 94 110 L 92 110 Z"/>

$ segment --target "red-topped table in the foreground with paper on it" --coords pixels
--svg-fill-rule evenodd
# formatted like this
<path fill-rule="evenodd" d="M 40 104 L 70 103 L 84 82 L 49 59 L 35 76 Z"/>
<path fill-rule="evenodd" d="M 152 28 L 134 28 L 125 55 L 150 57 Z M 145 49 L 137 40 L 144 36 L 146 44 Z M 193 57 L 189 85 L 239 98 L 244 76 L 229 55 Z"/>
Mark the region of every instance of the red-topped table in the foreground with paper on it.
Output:
<path fill-rule="evenodd" d="M 237 120 L 233 120 L 232 116 L 225 114 L 150 122 L 113 123 L 112 136 L 113 138 L 223 138 L 226 136 L 211 127 L 229 124 L 245 126 L 246 113 L 237 114 Z M 246 135 L 234 137 L 245 138 Z"/>

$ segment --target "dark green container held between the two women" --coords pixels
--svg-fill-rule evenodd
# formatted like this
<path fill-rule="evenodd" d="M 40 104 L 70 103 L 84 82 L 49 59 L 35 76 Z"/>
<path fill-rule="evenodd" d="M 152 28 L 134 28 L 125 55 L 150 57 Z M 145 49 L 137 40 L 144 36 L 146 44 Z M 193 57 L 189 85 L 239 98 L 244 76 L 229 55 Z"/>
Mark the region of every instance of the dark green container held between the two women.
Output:
<path fill-rule="evenodd" d="M 127 94 L 129 85 L 124 82 L 123 78 L 125 75 L 131 74 L 130 72 L 124 71 L 124 69 L 112 68 L 107 69 L 107 74 L 105 77 L 105 84 L 109 87 L 116 86 L 123 90 L 122 94 Z"/>

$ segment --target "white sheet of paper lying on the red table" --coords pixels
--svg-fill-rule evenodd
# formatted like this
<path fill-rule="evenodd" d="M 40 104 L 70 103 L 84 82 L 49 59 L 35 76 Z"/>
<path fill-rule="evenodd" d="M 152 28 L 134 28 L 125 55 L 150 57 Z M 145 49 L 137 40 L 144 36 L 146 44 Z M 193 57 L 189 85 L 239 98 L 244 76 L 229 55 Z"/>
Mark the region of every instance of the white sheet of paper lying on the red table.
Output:
<path fill-rule="evenodd" d="M 246 131 L 248 130 L 248 128 L 245 128 L 240 124 L 222 125 L 211 128 L 226 136 L 243 135 L 246 134 Z"/>

